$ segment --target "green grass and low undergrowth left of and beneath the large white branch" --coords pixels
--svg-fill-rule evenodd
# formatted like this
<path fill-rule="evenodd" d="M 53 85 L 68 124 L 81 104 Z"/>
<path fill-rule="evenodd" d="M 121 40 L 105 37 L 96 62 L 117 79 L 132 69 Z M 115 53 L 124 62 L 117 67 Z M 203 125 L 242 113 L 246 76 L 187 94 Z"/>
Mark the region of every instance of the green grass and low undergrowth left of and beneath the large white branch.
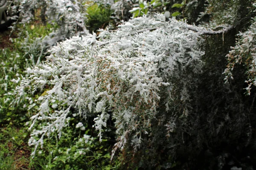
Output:
<path fill-rule="evenodd" d="M 113 134 L 108 133 L 100 143 L 92 128 L 93 120 L 85 121 L 83 118 L 68 120 L 68 127 L 61 139 L 57 136 L 44 139 L 47 147 L 38 150 L 34 158 L 30 156 L 33 147 L 28 146 L 28 128 L 31 125 L 30 117 L 38 109 L 33 101 L 42 94 L 27 95 L 25 102 L 20 102 L 16 107 L 10 106 L 14 98 L 6 94 L 17 85 L 13 79 L 26 77 L 26 68 L 45 60 L 47 50 L 42 48 L 41 40 L 55 27 L 49 24 L 44 26 L 40 21 L 24 26 L 17 25 L 16 29 L 20 31 L 16 34 L 6 31 L 0 35 L 1 44 L 4 43 L 0 49 L 3 69 L 0 74 L 0 169 L 117 169 L 119 162 L 110 163 L 111 148 L 115 142 Z M 76 128 L 79 122 L 83 124 Z"/>

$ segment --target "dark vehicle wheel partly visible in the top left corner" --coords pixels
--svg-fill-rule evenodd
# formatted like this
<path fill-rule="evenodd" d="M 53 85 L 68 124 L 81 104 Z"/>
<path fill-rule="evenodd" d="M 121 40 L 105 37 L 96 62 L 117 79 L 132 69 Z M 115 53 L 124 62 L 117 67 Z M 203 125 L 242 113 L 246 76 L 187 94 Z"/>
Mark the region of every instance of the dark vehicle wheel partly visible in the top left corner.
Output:
<path fill-rule="evenodd" d="M 0 31 L 9 27 L 12 23 L 11 15 L 8 12 L 8 0 L 0 0 Z"/>

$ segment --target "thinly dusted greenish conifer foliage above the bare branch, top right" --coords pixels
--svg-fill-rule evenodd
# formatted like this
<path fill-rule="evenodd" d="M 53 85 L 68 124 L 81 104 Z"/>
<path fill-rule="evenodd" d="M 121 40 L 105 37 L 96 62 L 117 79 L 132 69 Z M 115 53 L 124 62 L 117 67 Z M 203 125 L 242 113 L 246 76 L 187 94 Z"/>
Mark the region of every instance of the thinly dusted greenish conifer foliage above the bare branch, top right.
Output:
<path fill-rule="evenodd" d="M 235 28 L 253 17 L 253 0 L 207 0 L 197 22 L 204 27 Z"/>

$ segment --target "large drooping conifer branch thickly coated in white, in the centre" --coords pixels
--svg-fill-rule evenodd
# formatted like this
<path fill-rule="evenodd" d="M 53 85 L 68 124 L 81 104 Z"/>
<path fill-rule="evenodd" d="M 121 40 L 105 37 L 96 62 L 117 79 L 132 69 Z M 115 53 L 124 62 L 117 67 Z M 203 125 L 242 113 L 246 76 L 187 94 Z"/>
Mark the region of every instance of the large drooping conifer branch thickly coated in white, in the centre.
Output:
<path fill-rule="evenodd" d="M 188 88 L 203 65 L 201 38 L 186 23 L 165 20 L 162 14 L 143 16 L 116 31 L 102 30 L 98 37 L 72 37 L 53 47 L 47 61 L 28 69 L 27 77 L 13 80 L 20 83 L 12 93 L 15 102 L 27 93 L 44 91 L 29 129 L 46 124 L 32 131 L 30 144 L 42 146 L 44 136 L 55 131 L 61 137 L 70 116 L 97 115 L 94 127 L 100 140 L 111 117 L 118 136 L 115 147 L 122 149 L 131 139 L 136 150 L 158 108 L 168 113 L 179 98 L 183 102 L 180 116 L 186 116 Z M 79 114 L 71 114 L 71 109 Z"/>

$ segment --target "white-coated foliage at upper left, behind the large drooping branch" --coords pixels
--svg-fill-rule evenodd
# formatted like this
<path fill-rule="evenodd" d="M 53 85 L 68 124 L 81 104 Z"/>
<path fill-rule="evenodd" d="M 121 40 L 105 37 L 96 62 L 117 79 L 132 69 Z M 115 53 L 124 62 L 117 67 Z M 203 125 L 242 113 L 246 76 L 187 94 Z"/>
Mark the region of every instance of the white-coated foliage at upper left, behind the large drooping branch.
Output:
<path fill-rule="evenodd" d="M 12 0 L 12 4 L 15 4 L 11 6 L 12 11 L 19 14 L 19 17 L 13 18 L 21 18 L 17 22 L 29 23 L 34 19 L 35 12 L 41 9 L 40 17 L 43 22 L 45 20 L 58 27 L 42 40 L 47 47 L 76 34 L 87 34 L 84 25 L 86 17 L 81 13 L 85 6 L 80 0 Z"/>

